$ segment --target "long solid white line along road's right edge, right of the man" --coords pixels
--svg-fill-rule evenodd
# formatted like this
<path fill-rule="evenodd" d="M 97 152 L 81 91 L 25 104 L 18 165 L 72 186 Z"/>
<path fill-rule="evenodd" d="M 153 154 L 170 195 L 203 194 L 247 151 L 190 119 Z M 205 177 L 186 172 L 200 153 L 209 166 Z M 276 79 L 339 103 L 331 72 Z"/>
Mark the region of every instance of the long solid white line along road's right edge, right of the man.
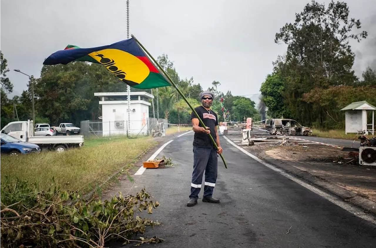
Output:
<path fill-rule="evenodd" d="M 314 192 L 315 194 L 317 195 L 320 195 L 321 197 L 325 198 L 326 200 L 336 204 L 337 206 L 343 208 L 344 210 L 352 213 L 353 215 L 355 216 L 358 216 L 359 218 L 362 218 L 366 221 L 369 221 L 373 224 L 376 224 L 376 218 L 372 215 L 369 215 L 367 213 L 364 213 L 362 209 L 360 209 L 359 207 L 355 207 L 349 203 L 346 203 L 344 202 L 341 198 L 338 198 L 334 195 L 330 195 L 324 191 L 322 191 L 321 189 L 318 189 L 312 185 L 309 185 L 308 183 L 306 182 L 303 182 L 302 180 L 300 179 L 297 179 L 296 177 L 294 176 L 291 176 L 290 174 L 288 174 L 287 172 L 279 169 L 279 168 L 276 168 L 274 165 L 271 165 L 271 164 L 268 164 L 267 162 L 264 162 L 262 161 L 260 158 L 256 157 L 255 155 L 247 152 L 246 150 L 244 150 L 243 148 L 241 148 L 240 146 L 238 146 L 237 144 L 233 143 L 229 138 L 227 138 L 226 136 L 223 135 L 223 137 L 230 143 L 232 144 L 233 146 L 235 146 L 236 148 L 238 148 L 241 152 L 244 152 L 246 155 L 250 156 L 251 158 L 255 159 L 257 162 L 265 165 L 266 167 L 270 168 L 271 170 L 274 170 L 276 172 L 278 172 L 279 174 L 287 177 L 288 179 L 302 185 L 303 187 L 305 187 L 306 189 Z"/>

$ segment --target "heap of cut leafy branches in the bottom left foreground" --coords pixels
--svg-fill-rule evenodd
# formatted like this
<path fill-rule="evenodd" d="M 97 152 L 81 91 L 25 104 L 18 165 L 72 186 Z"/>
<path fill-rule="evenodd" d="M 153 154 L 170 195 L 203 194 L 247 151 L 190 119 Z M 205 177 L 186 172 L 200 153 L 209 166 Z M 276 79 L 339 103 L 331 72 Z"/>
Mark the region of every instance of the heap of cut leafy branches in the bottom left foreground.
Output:
<path fill-rule="evenodd" d="M 137 237 L 158 221 L 134 216 L 152 213 L 158 201 L 142 189 L 111 200 L 85 200 L 78 192 L 63 191 L 55 183 L 41 190 L 37 183 L 6 180 L 0 185 L 0 247 L 105 247 L 109 240 L 159 243 Z"/>

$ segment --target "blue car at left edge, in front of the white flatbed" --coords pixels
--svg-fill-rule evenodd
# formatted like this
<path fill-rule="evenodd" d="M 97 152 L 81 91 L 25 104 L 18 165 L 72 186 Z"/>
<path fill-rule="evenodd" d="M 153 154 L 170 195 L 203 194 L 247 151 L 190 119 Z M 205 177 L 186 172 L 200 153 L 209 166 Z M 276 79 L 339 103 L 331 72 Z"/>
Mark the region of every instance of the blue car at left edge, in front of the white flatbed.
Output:
<path fill-rule="evenodd" d="M 8 134 L 0 134 L 0 153 L 18 155 L 32 152 L 41 152 L 41 149 L 36 144 L 23 142 Z"/>

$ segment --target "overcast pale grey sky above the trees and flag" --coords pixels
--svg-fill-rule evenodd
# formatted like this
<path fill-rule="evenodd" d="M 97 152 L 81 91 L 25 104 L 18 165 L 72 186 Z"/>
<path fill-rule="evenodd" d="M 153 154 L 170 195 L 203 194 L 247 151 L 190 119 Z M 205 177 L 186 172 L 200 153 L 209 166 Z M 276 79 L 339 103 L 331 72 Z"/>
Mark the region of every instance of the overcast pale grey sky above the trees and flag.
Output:
<path fill-rule="evenodd" d="M 193 77 L 204 89 L 220 81 L 219 90 L 251 97 L 286 50 L 274 43 L 275 33 L 308 2 L 130 0 L 130 33 L 154 57 L 167 54 L 181 78 Z M 376 58 L 376 5 L 345 2 L 369 33 L 353 48 L 361 75 Z M 127 38 L 126 0 L 0 0 L 0 17 L 0 50 L 14 84 L 9 97 L 20 95 L 28 80 L 13 69 L 39 77 L 44 59 L 67 44 L 97 47 Z"/>

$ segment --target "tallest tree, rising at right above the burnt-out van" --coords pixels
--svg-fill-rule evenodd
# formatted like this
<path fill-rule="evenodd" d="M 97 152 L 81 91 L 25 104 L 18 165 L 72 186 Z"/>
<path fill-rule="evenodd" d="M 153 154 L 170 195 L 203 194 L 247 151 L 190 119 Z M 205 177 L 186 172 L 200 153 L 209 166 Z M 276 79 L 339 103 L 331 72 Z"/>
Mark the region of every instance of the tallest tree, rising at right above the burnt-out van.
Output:
<path fill-rule="evenodd" d="M 359 31 L 361 22 L 349 17 L 345 2 L 324 4 L 312 1 L 276 33 L 275 42 L 287 44 L 284 58 L 277 60 L 275 71 L 285 79 L 285 103 L 292 117 L 305 123 L 322 125 L 327 114 L 302 101 L 303 94 L 334 85 L 353 85 L 352 66 L 355 55 L 351 40 L 360 41 L 367 32 Z"/>

